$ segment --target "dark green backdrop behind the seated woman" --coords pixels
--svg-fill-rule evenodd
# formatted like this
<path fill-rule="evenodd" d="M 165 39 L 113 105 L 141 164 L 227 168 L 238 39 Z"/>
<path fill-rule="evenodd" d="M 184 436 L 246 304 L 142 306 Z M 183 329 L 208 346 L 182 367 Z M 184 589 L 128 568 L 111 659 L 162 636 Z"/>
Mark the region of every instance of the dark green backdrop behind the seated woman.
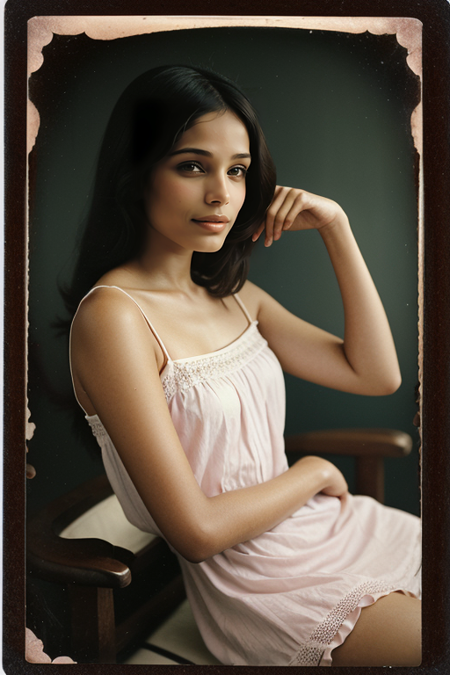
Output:
<path fill-rule="evenodd" d="M 287 377 L 287 432 L 392 427 L 415 450 L 388 460 L 386 503 L 419 512 L 417 383 L 417 206 L 409 118 L 418 84 L 394 36 L 291 29 L 215 28 L 111 41 L 54 36 L 31 77 L 41 117 L 31 157 L 29 399 L 37 429 L 29 443 L 37 477 L 28 506 L 102 471 L 72 433 L 67 343 L 52 327 L 63 313 L 57 284 L 70 276 L 95 157 L 125 86 L 160 64 L 212 68 L 235 80 L 257 108 L 278 181 L 338 201 L 384 302 L 403 384 L 392 396 L 361 397 Z M 316 232 L 258 246 L 250 278 L 288 309 L 337 335 L 342 305 Z M 339 466 L 352 484 L 351 460 Z"/>

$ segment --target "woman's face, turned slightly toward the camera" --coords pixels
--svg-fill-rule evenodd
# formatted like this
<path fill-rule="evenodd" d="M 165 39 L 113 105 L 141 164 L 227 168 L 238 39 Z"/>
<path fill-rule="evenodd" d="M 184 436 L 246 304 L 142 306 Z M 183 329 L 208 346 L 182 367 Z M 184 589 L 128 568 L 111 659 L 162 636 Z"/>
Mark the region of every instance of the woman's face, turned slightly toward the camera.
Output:
<path fill-rule="evenodd" d="M 145 191 L 150 239 L 218 251 L 245 200 L 250 141 L 230 111 L 200 117 L 152 171 Z"/>

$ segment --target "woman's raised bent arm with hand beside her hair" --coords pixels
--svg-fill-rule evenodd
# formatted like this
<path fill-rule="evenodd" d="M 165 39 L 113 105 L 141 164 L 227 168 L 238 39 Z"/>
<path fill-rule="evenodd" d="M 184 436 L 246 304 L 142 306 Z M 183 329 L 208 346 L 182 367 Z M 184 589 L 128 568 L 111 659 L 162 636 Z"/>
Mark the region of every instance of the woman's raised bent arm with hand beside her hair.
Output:
<path fill-rule="evenodd" d="M 316 229 L 328 250 L 344 306 L 344 340 L 302 321 L 253 287 L 260 330 L 287 372 L 324 386 L 371 396 L 401 383 L 389 323 L 350 228 L 334 201 L 304 190 L 277 187 L 265 223 L 265 245 L 283 231 Z"/>

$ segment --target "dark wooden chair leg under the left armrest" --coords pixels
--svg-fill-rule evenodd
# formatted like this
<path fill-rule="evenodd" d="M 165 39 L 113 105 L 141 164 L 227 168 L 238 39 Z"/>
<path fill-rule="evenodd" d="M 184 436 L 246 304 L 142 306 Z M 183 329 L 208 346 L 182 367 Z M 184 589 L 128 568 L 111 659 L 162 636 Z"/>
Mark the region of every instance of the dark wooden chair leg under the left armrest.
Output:
<path fill-rule="evenodd" d="M 81 663 L 115 663 L 112 588 L 69 585 L 72 658 Z"/>

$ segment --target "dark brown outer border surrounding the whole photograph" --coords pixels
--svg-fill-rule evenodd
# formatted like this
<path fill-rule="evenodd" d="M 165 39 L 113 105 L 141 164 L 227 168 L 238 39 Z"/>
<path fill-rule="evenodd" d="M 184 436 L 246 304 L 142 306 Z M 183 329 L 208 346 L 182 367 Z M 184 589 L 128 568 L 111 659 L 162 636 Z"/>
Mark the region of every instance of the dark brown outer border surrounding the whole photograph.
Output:
<path fill-rule="evenodd" d="M 260 15 L 412 17 L 423 23 L 424 81 L 424 368 L 423 368 L 423 662 L 400 672 L 446 673 L 450 666 L 450 5 L 446 0 L 8 0 L 5 7 L 5 427 L 3 667 L 8 675 L 48 666 L 24 660 L 25 500 L 25 180 L 27 21 L 36 15 Z M 6 610 L 6 611 L 5 611 Z M 66 673 L 67 666 L 52 666 Z M 127 666 L 180 674 L 183 666 Z M 62 670 L 61 670 L 62 669 Z M 83 664 L 74 673 L 121 673 L 123 666 Z M 195 672 L 242 675 L 246 667 Z M 282 668 L 258 668 L 273 675 Z M 322 670 L 322 669 L 320 669 Z M 369 672 L 359 668 L 359 672 Z M 398 672 L 397 671 L 397 672 Z M 190 672 L 194 668 L 190 667 Z M 351 673 L 352 668 L 341 668 Z M 384 673 L 371 668 L 370 673 Z"/>

